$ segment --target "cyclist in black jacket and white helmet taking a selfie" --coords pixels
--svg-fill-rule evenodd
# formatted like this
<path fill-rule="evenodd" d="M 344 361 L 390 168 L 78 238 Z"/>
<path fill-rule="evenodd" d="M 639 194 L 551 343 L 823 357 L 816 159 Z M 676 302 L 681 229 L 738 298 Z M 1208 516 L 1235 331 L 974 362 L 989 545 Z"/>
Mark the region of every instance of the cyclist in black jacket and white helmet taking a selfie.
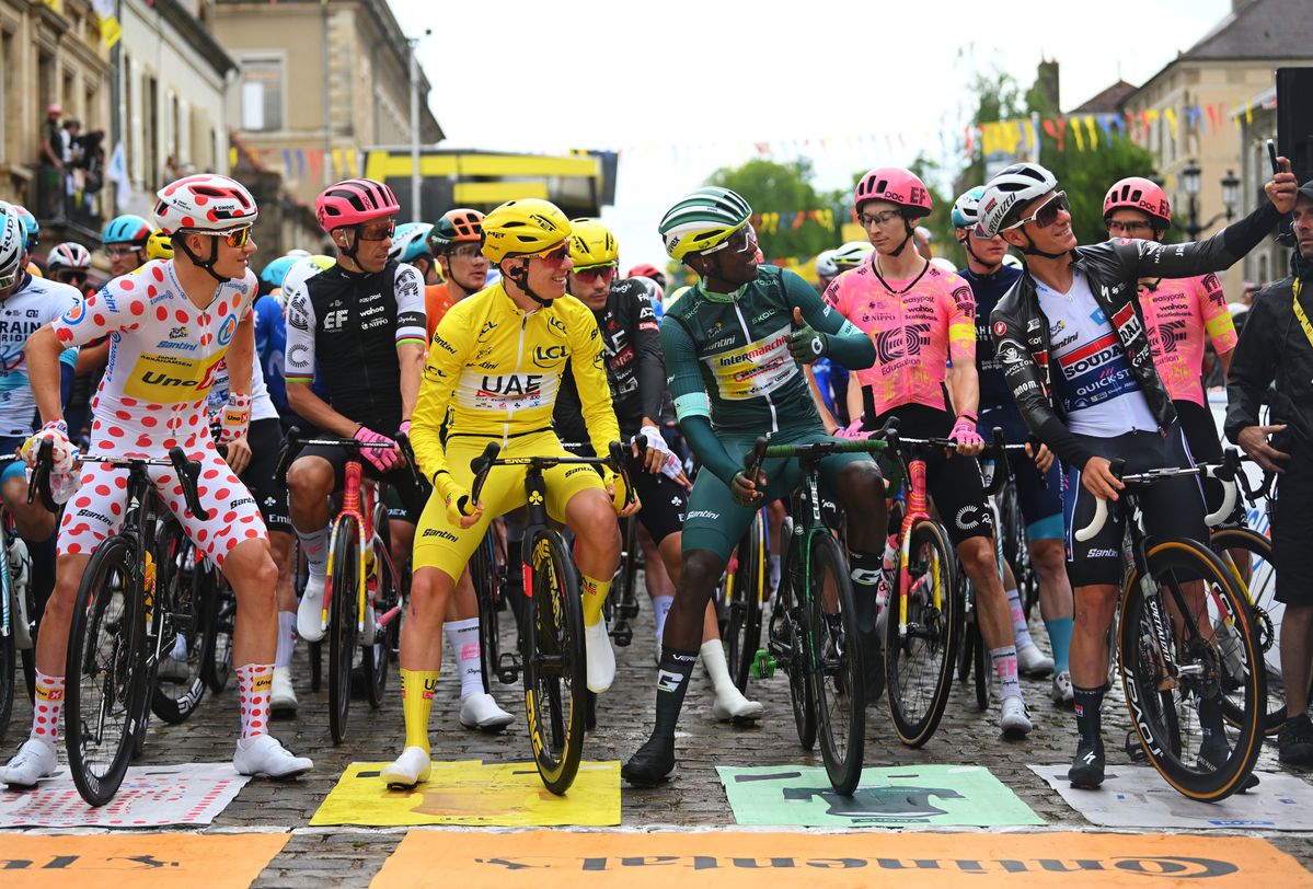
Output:
<path fill-rule="evenodd" d="M 991 315 L 1003 377 L 1027 427 L 1066 467 L 1067 574 L 1077 600 L 1071 682 L 1078 741 L 1069 772 L 1074 787 L 1103 783 L 1099 705 L 1123 571 L 1124 520 L 1109 517 L 1099 534 L 1081 544 L 1073 528 L 1090 524 L 1096 498 L 1117 499 L 1124 485 L 1109 469 L 1113 458 L 1125 458 L 1129 471 L 1190 465 L 1171 398 L 1154 369 L 1137 285 L 1150 274 L 1190 277 L 1234 264 L 1295 206 L 1293 175 L 1278 173 L 1266 190 L 1270 202 L 1207 240 L 1121 239 L 1090 247 L 1078 246 L 1066 194 L 1039 164 L 1003 169 L 981 197 L 981 234 L 1001 234 L 1027 257 L 1025 272 Z M 1141 503 L 1150 534 L 1208 540 L 1196 481 L 1155 485 Z M 1200 760 L 1225 760 L 1216 700 L 1201 703 L 1199 720 L 1205 735 Z"/>

